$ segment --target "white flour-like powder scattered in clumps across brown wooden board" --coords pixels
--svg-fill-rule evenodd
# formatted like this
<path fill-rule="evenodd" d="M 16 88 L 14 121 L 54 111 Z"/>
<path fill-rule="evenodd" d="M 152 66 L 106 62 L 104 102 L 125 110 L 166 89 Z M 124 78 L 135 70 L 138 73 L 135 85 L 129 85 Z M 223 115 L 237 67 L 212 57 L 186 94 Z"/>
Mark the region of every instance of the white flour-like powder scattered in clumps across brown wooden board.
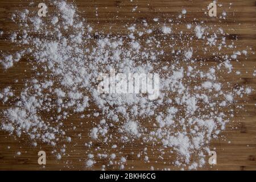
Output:
<path fill-rule="evenodd" d="M 123 153 L 123 144 L 113 144 L 115 153 L 93 147 L 94 142 L 114 143 L 117 138 L 121 143 L 141 141 L 158 146 L 157 151 L 168 148 L 170 154 L 176 154 L 170 164 L 181 169 L 203 167 L 210 141 L 220 136 L 233 117 L 236 97 L 252 92 L 250 88 L 234 89 L 220 79 L 220 75 L 233 71 L 232 61 L 246 56 L 249 50 L 239 50 L 233 40 L 226 41 L 222 28 L 205 27 L 198 21 L 184 23 L 186 10 L 177 18 L 165 19 L 164 24 L 158 17 L 127 24 L 126 35 L 120 32 L 113 36 L 94 30 L 72 3 L 46 4 L 54 9 L 47 17 L 40 18 L 32 10 L 37 6 L 34 3 L 31 10 L 13 14 L 19 30 L 9 33 L 10 41 L 19 51 L 3 53 L 0 62 L 11 69 L 19 60 L 27 59 L 36 74 L 19 94 L 10 87 L 2 90 L 3 104 L 15 104 L 2 110 L 1 129 L 18 137 L 26 134 L 34 145 L 44 142 L 57 146 L 60 140 L 72 141 L 65 129 L 72 114 L 85 120 L 96 117 L 101 119 L 92 122 L 86 134 L 91 142 L 85 143 L 85 167 L 93 167 L 104 158 L 108 163 L 102 169 L 125 169 L 127 156 L 117 158 Z M 187 31 L 179 30 L 178 25 Z M 195 47 L 194 42 L 200 46 Z M 223 54 L 223 50 L 233 53 Z M 199 56 L 207 53 L 212 58 Z M 148 100 L 147 94 L 99 93 L 98 76 L 112 69 L 127 75 L 158 73 L 159 97 Z M 92 110 L 94 107 L 97 109 Z M 56 158 L 61 159 L 62 154 L 57 153 Z M 133 155 L 145 163 L 150 161 L 147 148 Z"/>

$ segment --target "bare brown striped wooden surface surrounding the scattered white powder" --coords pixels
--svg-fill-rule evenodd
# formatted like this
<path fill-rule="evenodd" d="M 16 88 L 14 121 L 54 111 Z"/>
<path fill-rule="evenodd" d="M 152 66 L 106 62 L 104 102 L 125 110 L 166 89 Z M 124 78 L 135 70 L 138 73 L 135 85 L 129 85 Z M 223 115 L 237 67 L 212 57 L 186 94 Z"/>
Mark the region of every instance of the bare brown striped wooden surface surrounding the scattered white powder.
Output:
<path fill-rule="evenodd" d="M 193 22 L 194 18 L 199 20 L 206 20 L 205 25 L 223 27 L 228 32 L 231 38 L 237 36 L 238 40 L 236 44 L 241 49 L 252 48 L 255 51 L 256 45 L 256 2 L 255 0 L 223 0 L 218 1 L 223 6 L 218 7 L 217 14 L 220 15 L 222 10 L 225 10 L 228 15 L 226 20 L 218 22 L 216 19 L 210 19 L 204 12 L 207 9 L 210 1 L 184 1 L 184 0 L 134 0 L 130 1 L 111 1 L 111 0 L 99 0 L 99 1 L 87 1 L 77 0 L 75 1 L 78 9 L 81 11 L 81 16 L 86 18 L 89 24 L 94 26 L 94 30 L 104 30 L 120 32 L 123 29 L 123 34 L 126 34 L 123 26 L 126 23 L 140 22 L 143 18 L 150 20 L 155 17 L 160 18 L 172 18 L 172 15 L 178 15 L 182 9 L 187 10 L 186 22 Z M 232 3 L 230 6 L 229 3 Z M 149 5 L 147 5 L 149 4 Z M 37 5 L 37 4 L 36 4 Z M 8 32 L 15 29 L 14 24 L 11 23 L 10 17 L 15 10 L 22 10 L 28 3 L 26 1 L 19 0 L 0 0 L 0 30 Z M 133 7 L 138 6 L 137 11 L 131 12 Z M 230 9 L 229 9 L 230 6 Z M 107 8 L 106 8 L 107 7 Z M 96 8 L 98 16 L 96 16 Z M 139 12 L 140 11 L 140 12 Z M 110 30 L 109 27 L 112 27 Z M 5 34 L 4 34 L 5 35 Z M 8 51 L 12 47 L 8 46 L 5 42 L 5 36 L 0 39 L 0 50 Z M 243 63 L 234 63 L 234 71 L 241 71 L 241 75 L 236 75 L 235 72 L 230 73 L 223 77 L 224 80 L 229 81 L 233 86 L 246 85 L 256 90 L 256 77 L 253 77 L 253 72 L 256 69 L 256 55 L 250 53 L 246 57 L 241 57 L 240 61 Z M 26 70 L 26 72 L 24 72 Z M 31 71 L 26 59 L 20 61 L 15 67 L 5 71 L 1 68 L 0 71 L 0 89 L 2 90 L 6 86 L 13 86 L 16 89 L 22 89 L 26 79 L 29 79 L 34 72 Z M 18 84 L 15 80 L 18 79 Z M 211 148 L 216 148 L 217 152 L 217 165 L 210 166 L 208 163 L 203 169 L 209 170 L 256 170 L 256 94 L 253 92 L 250 96 L 238 99 L 238 103 L 244 105 L 244 109 L 236 108 L 234 105 L 235 116 L 230 121 L 226 130 L 221 133 L 219 139 L 213 140 L 210 144 Z M 0 109 L 6 109 L 6 106 L 0 104 Z M 65 127 L 71 128 L 79 125 L 81 121 L 92 121 L 97 118 L 77 118 L 76 115 L 68 118 L 68 122 L 65 122 Z M 84 147 L 85 142 L 89 142 L 88 137 L 89 130 L 92 128 L 90 122 L 84 122 L 82 128 L 77 127 L 76 131 L 69 130 L 68 135 L 72 136 L 72 142 L 67 144 L 66 155 L 61 160 L 56 160 L 55 155 L 51 154 L 53 148 L 47 144 L 38 143 L 38 146 L 33 147 L 26 135 L 22 135 L 21 138 L 16 138 L 13 135 L 9 135 L 6 132 L 0 131 L 0 170 L 67 170 L 67 169 L 81 169 L 86 170 L 85 160 L 88 154 Z M 79 134 L 82 137 L 79 137 Z M 229 142 L 230 141 L 230 142 Z M 96 146 L 110 148 L 111 143 L 105 145 L 105 143 L 95 143 Z M 125 143 L 123 144 L 123 155 L 127 156 L 127 165 L 125 169 L 138 169 L 148 170 L 151 166 L 155 169 L 176 167 L 169 164 L 174 158 L 165 158 L 163 161 L 154 163 L 156 160 L 155 155 L 150 156 L 150 163 L 144 163 L 143 160 L 133 158 L 130 155 L 131 151 L 141 151 L 144 144 L 139 142 Z M 154 150 L 154 147 L 148 147 L 148 151 Z M 47 164 L 43 168 L 38 164 L 38 151 L 44 150 L 47 154 Z M 21 155 L 16 155 L 20 151 Z M 167 154 L 166 154 L 167 155 Z M 208 156 L 206 157 L 208 161 Z M 166 163 L 164 163 L 166 162 Z M 93 169 L 101 169 L 102 164 L 105 164 L 106 160 L 97 160 Z M 131 168 L 134 167 L 134 168 Z M 118 169 L 118 166 L 106 167 L 106 170 Z"/>

